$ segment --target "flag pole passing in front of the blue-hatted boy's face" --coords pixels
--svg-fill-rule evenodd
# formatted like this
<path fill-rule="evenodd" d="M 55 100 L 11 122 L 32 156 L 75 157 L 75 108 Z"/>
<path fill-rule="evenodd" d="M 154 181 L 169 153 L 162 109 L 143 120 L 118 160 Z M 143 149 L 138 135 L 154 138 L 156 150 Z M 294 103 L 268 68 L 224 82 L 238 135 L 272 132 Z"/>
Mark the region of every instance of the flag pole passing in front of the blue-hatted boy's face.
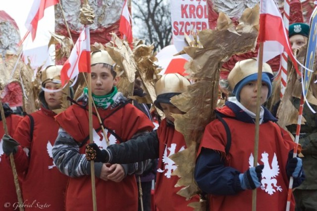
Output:
<path fill-rule="evenodd" d="M 259 47 L 259 69 L 258 69 L 258 90 L 257 90 L 257 112 L 256 112 L 256 130 L 254 139 L 254 158 L 253 166 L 258 165 L 259 153 L 259 132 L 260 132 L 260 108 L 261 108 L 261 87 L 262 87 L 262 67 L 263 67 L 263 42 Z M 257 188 L 252 191 L 252 211 L 257 211 Z"/>

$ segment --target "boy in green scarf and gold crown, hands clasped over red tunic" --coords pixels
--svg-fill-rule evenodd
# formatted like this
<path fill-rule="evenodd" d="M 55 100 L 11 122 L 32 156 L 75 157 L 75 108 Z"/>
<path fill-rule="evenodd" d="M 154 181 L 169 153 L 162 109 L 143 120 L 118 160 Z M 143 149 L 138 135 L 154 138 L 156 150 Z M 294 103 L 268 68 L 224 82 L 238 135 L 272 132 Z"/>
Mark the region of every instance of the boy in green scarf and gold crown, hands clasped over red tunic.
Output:
<path fill-rule="evenodd" d="M 134 136 L 150 132 L 151 120 L 130 104 L 117 91 L 118 78 L 114 62 L 106 51 L 91 55 L 92 97 L 102 119 L 110 144 L 124 142 Z M 88 88 L 78 103 L 56 116 L 60 125 L 53 147 L 53 158 L 58 169 L 70 176 L 66 192 L 66 211 L 93 209 L 90 162 L 85 157 L 89 139 Z M 106 149 L 101 124 L 93 110 L 94 142 Z M 145 166 L 95 163 L 97 209 L 101 211 L 137 211 L 138 190 L 134 173 L 142 173 Z"/>

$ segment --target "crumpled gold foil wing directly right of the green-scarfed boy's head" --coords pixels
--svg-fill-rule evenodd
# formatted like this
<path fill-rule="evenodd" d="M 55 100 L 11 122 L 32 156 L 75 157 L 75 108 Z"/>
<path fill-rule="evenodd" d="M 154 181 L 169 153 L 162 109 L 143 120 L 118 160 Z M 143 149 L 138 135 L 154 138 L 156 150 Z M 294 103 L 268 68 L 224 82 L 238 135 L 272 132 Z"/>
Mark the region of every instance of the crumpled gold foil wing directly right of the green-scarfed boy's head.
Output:
<path fill-rule="evenodd" d="M 155 82 L 159 79 L 158 65 L 154 64 L 157 61 L 153 53 L 154 46 L 146 45 L 143 41 L 133 43 L 133 50 L 130 45 L 119 39 L 116 34 L 112 34 L 111 45 L 107 45 L 106 50 L 116 63 L 115 70 L 120 76 L 117 85 L 120 92 L 124 96 L 133 98 L 140 103 L 153 103 L 156 100 L 154 89 Z M 147 93 L 145 98 L 133 96 L 134 81 L 140 78 L 143 84 L 143 89 Z M 133 96 L 133 97 L 132 97 Z M 157 109 L 160 116 L 163 113 Z"/>

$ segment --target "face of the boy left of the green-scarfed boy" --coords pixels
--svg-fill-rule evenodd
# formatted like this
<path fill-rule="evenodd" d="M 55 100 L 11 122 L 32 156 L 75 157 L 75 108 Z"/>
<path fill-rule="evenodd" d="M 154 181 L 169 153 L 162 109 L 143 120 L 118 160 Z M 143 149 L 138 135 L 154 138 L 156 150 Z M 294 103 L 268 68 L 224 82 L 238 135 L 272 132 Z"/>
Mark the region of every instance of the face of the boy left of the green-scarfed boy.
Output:
<path fill-rule="evenodd" d="M 48 82 L 45 84 L 45 88 L 56 90 L 60 88 L 60 84 L 54 84 L 53 82 Z M 61 97 L 63 95 L 62 91 L 57 92 L 47 92 L 44 91 L 45 101 L 48 104 L 50 110 L 59 109 L 61 104 Z"/>

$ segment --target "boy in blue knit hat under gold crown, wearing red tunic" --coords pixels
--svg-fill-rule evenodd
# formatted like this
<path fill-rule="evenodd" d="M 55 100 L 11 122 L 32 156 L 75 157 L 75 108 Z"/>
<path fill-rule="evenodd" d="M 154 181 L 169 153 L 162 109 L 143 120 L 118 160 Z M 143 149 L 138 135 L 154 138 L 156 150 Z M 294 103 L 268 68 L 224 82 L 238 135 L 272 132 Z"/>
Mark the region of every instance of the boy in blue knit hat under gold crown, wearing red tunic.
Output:
<path fill-rule="evenodd" d="M 271 94 L 272 77 L 270 66 L 264 63 L 261 104 Z M 292 158 L 290 153 L 294 142 L 263 106 L 258 166 L 253 167 L 257 78 L 256 59 L 237 62 L 228 82 L 238 102 L 226 102 L 224 107 L 216 109 L 217 119 L 205 129 L 195 179 L 210 194 L 212 211 L 251 210 L 253 189 L 257 189 L 257 211 L 285 210 L 289 177 L 294 177 L 294 187 L 305 177 L 301 159 Z M 291 210 L 294 208 L 292 197 Z"/>

